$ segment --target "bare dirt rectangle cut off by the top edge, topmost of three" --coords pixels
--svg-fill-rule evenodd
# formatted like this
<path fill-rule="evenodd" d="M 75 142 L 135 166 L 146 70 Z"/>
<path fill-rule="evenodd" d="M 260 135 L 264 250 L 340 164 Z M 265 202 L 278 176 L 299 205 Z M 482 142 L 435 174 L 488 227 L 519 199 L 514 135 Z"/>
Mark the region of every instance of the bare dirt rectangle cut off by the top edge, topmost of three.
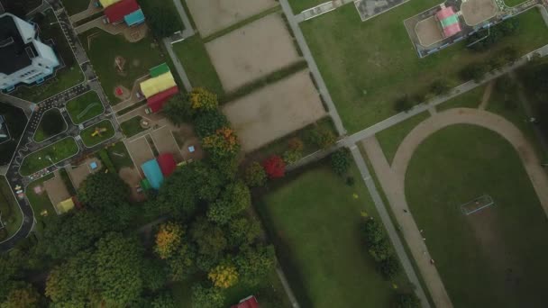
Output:
<path fill-rule="evenodd" d="M 203 37 L 278 5 L 275 0 L 187 0 Z"/>

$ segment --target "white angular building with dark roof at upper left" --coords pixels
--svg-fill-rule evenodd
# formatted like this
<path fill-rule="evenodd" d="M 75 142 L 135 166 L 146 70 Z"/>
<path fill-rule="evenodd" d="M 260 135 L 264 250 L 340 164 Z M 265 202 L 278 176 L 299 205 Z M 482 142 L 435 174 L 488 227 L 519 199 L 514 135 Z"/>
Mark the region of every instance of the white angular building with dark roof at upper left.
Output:
<path fill-rule="evenodd" d="M 55 52 L 40 41 L 34 25 L 13 14 L 0 15 L 0 90 L 40 84 L 58 66 Z"/>

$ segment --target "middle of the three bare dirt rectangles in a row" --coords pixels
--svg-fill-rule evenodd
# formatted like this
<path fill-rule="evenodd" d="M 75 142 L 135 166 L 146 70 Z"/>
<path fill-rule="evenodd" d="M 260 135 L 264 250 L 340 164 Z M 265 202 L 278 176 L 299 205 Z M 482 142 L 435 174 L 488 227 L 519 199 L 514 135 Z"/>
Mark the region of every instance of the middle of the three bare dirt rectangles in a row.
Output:
<path fill-rule="evenodd" d="M 205 44 L 226 91 L 243 86 L 299 59 L 279 14 Z"/>

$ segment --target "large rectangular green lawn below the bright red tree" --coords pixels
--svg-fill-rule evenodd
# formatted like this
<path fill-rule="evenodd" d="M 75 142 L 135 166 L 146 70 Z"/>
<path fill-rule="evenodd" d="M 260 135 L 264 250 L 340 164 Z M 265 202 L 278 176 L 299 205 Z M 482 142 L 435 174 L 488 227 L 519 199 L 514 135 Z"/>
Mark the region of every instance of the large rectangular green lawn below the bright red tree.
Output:
<path fill-rule="evenodd" d="M 329 167 L 308 169 L 277 184 L 259 204 L 302 307 L 388 307 L 395 294 L 361 235 L 361 213 L 377 217 L 374 205 L 354 165 L 350 175 L 354 186 Z M 395 283 L 407 287 L 404 277 Z"/>

